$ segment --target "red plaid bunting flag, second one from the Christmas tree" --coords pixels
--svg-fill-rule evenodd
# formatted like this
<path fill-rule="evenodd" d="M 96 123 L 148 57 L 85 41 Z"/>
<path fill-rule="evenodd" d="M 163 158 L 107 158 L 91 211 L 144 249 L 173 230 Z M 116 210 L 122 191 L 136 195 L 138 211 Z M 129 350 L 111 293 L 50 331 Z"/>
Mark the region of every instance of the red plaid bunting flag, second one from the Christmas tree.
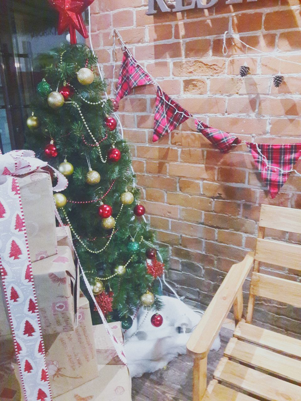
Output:
<path fill-rule="evenodd" d="M 187 118 L 192 117 L 179 103 L 173 101 L 167 93 L 158 87 L 154 121 L 153 142 L 169 134 Z"/>

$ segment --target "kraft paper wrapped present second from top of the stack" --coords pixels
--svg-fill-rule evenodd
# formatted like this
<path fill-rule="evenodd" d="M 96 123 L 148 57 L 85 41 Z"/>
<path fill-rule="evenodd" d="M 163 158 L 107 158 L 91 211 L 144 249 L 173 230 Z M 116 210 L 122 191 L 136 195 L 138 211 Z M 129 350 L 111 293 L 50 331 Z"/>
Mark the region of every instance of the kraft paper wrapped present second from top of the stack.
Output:
<path fill-rule="evenodd" d="M 74 330 L 79 301 L 79 269 L 73 262 L 70 248 L 58 247 L 57 255 L 41 259 L 32 266 L 43 334 Z M 26 272 L 24 274 L 26 280 Z M 10 336 L 1 287 L 0 292 L 0 337 Z"/>

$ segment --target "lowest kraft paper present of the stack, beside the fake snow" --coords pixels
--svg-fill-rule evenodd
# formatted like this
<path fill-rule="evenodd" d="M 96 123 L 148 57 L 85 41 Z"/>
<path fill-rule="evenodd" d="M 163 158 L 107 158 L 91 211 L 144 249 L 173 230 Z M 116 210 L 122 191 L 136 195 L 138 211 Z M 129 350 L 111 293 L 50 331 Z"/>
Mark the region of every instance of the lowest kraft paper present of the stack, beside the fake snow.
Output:
<path fill-rule="evenodd" d="M 115 336 L 123 342 L 120 322 L 109 323 Z M 98 377 L 56 397 L 54 401 L 132 401 L 128 368 L 118 358 L 103 324 L 93 326 Z"/>

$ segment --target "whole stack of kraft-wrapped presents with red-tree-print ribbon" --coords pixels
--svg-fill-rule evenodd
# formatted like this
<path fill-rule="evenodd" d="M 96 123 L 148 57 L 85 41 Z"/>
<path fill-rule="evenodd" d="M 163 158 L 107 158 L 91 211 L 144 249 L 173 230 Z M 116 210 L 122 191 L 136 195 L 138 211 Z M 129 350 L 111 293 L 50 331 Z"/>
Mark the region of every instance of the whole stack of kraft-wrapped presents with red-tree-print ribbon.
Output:
<path fill-rule="evenodd" d="M 9 190 L 13 189 L 14 178 L 11 182 Z M 104 325 L 92 327 L 89 302 L 80 294 L 79 268 L 68 239 L 71 238 L 69 227 L 56 227 L 49 173 L 39 169 L 19 175 L 17 184 L 21 213 L 13 213 L 9 198 L 2 198 L 6 188 L 0 180 L 0 223 L 1 219 L 9 219 L 10 235 L 13 234 L 8 256 L 4 255 L 7 247 L 2 247 L 0 255 L 0 400 L 50 401 L 52 397 L 55 401 L 130 401 L 127 367 L 120 365 L 116 358 Z M 25 263 L 18 286 L 14 266 L 6 260 L 12 259 L 18 269 L 22 252 L 25 253 L 18 237 L 22 231 L 31 267 Z M 2 226 L 0 245 L 5 235 Z M 28 284 L 33 284 L 36 297 L 25 299 L 22 286 Z M 17 304 L 24 306 L 22 313 L 14 316 L 13 307 Z M 35 314 L 39 316 L 39 328 L 35 325 Z M 22 321 L 22 330 L 14 332 L 12 328 L 18 327 L 17 320 Z M 39 339 L 39 330 L 43 340 L 37 342 L 34 352 L 28 356 L 25 337 Z M 122 341 L 120 323 L 112 324 L 111 330 Z M 44 358 L 46 369 L 37 371 L 39 358 Z M 24 383 L 24 377 L 27 380 L 31 374 L 36 377 L 33 382 L 39 382 L 37 391 L 32 390 L 35 385 L 26 388 Z M 46 384 L 43 388 L 40 383 L 48 383 L 48 387 L 50 384 L 49 393 Z M 26 396 L 22 389 L 26 389 Z"/>

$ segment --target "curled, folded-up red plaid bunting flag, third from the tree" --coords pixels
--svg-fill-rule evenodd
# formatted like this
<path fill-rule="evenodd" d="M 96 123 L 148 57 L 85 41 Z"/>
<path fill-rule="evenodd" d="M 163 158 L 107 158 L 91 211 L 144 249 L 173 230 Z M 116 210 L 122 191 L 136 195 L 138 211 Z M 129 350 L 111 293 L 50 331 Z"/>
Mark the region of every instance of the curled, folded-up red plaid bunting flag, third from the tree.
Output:
<path fill-rule="evenodd" d="M 198 119 L 195 119 L 195 126 L 197 132 L 203 134 L 207 140 L 223 153 L 229 152 L 233 147 L 232 145 L 238 145 L 241 142 L 235 135 L 209 127 Z"/>

